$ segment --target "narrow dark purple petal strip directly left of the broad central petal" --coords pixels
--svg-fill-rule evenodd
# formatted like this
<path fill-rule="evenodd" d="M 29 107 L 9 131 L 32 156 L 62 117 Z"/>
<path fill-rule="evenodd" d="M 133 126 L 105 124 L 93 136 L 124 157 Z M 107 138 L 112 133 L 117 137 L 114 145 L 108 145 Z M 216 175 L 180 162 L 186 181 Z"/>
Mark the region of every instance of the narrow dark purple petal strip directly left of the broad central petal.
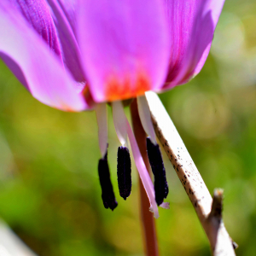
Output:
<path fill-rule="evenodd" d="M 79 82 L 84 82 L 85 79 L 80 62 L 79 45 L 73 31 L 75 21 L 73 15 L 67 16 L 68 14 L 73 14 L 70 9 L 72 9 L 71 7 L 75 1 L 68 3 L 67 1 L 63 2 L 60 0 L 47 0 L 47 2 L 52 9 L 52 15 L 54 16 L 55 26 L 61 42 L 61 51 L 64 64 L 73 74 L 74 79 Z M 64 3 L 65 6 L 63 5 Z M 64 7 L 67 7 L 67 10 L 63 9 Z M 69 19 L 67 19 L 67 17 L 69 17 Z M 70 20 L 73 22 L 73 26 L 71 26 Z"/>

